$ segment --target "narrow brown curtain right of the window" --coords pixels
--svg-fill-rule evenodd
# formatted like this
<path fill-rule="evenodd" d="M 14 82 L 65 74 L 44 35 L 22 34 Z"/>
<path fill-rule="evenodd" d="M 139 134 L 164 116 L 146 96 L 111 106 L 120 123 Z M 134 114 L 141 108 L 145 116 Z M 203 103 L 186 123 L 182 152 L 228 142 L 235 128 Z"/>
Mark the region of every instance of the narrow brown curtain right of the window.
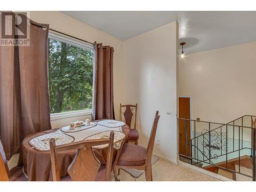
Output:
<path fill-rule="evenodd" d="M 95 72 L 93 119 L 115 119 L 113 102 L 113 53 L 110 46 L 94 43 Z"/>

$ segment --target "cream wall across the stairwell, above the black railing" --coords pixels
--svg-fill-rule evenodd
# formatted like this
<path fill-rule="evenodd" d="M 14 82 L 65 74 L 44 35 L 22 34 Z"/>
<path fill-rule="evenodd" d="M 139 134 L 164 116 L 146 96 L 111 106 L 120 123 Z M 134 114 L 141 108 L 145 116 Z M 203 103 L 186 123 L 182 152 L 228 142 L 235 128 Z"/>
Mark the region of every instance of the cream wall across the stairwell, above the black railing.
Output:
<path fill-rule="evenodd" d="M 191 97 L 191 118 L 227 123 L 256 115 L 255 53 L 256 41 L 180 59 L 179 95 Z"/>

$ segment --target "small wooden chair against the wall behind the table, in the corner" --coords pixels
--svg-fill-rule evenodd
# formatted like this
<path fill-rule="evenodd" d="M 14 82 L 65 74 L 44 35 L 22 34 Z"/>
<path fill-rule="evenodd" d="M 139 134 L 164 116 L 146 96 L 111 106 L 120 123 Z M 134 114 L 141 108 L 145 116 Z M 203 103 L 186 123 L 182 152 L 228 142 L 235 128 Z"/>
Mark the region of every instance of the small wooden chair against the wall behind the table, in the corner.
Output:
<path fill-rule="evenodd" d="M 122 108 L 125 108 L 125 111 L 123 113 L 124 119 L 125 119 L 125 123 L 130 127 L 130 133 L 129 133 L 129 140 L 128 141 L 132 141 L 135 142 L 135 144 L 138 144 L 138 140 L 139 140 L 139 133 L 136 130 L 136 125 L 137 125 L 137 103 L 135 105 L 132 104 L 124 104 L 122 105 L 120 103 L 120 121 L 122 121 Z M 132 123 L 132 118 L 133 118 L 133 112 L 131 110 L 131 108 L 135 108 L 135 119 L 134 119 L 134 127 L 131 127 L 131 123 Z"/>

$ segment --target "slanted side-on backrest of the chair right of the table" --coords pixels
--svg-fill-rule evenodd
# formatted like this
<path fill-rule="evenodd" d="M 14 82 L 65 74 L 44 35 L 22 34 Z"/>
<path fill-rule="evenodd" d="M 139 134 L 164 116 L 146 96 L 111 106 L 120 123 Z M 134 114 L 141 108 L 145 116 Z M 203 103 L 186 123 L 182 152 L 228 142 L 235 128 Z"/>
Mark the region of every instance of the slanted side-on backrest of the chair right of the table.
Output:
<path fill-rule="evenodd" d="M 159 118 L 160 118 L 160 115 L 158 115 L 158 111 L 156 111 L 155 119 L 151 129 L 150 140 L 148 141 L 148 145 L 147 145 L 147 157 L 145 162 L 146 165 L 148 163 L 151 163 Z"/>

